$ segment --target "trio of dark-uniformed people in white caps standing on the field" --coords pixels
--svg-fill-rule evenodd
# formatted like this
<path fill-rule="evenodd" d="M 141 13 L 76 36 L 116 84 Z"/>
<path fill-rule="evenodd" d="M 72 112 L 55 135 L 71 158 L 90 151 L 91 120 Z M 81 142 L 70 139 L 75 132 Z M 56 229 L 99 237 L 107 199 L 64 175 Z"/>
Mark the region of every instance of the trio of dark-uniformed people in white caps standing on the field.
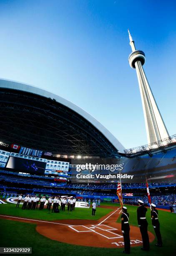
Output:
<path fill-rule="evenodd" d="M 148 222 L 146 220 L 147 208 L 144 207 L 143 201 L 141 200 L 138 200 L 138 205 L 139 207 L 137 209 L 137 219 L 138 219 L 138 226 L 140 228 L 142 241 L 143 241 L 143 247 L 141 248 L 141 250 L 149 251 L 150 244 L 149 244 L 148 231 L 147 231 Z M 121 215 L 121 230 L 124 238 L 123 253 L 130 254 L 130 225 L 128 223 L 129 213 L 127 212 L 127 207 L 123 206 L 122 212 L 123 213 Z M 157 238 L 156 246 L 161 247 L 163 243 L 162 243 L 162 238 L 160 233 L 160 223 L 158 220 L 158 210 L 156 210 L 156 205 L 154 204 L 151 204 L 151 222 Z"/>

